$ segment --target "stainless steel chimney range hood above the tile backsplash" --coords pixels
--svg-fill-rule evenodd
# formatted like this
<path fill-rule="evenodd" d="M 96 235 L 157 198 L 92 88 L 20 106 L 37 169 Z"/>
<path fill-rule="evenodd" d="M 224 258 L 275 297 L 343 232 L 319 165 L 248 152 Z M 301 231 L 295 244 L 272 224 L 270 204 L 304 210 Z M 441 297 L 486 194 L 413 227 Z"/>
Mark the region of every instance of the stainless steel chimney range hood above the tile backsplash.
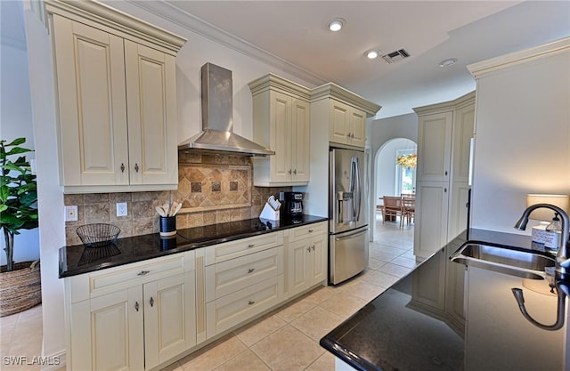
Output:
<path fill-rule="evenodd" d="M 212 63 L 201 69 L 202 132 L 178 150 L 230 156 L 268 156 L 275 152 L 233 133 L 232 71 Z"/>

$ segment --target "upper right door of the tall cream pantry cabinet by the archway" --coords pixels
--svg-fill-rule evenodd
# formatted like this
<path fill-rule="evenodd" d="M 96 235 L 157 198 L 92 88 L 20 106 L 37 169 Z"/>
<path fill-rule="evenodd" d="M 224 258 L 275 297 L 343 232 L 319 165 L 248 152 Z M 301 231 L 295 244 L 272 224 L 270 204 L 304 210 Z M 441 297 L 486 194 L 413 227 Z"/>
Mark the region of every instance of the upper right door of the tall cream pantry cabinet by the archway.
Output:
<path fill-rule="evenodd" d="M 470 141 L 475 124 L 475 104 L 453 114 L 453 181 L 469 180 Z"/>

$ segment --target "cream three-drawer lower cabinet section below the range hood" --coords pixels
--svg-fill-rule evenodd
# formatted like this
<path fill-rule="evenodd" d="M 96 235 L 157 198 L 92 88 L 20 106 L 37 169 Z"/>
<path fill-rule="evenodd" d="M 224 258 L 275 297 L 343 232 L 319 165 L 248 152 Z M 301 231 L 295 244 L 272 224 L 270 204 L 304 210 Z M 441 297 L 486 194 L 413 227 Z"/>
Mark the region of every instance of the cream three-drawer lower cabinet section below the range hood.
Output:
<path fill-rule="evenodd" d="M 208 339 L 282 302 L 282 231 L 209 246 L 205 262 Z"/>

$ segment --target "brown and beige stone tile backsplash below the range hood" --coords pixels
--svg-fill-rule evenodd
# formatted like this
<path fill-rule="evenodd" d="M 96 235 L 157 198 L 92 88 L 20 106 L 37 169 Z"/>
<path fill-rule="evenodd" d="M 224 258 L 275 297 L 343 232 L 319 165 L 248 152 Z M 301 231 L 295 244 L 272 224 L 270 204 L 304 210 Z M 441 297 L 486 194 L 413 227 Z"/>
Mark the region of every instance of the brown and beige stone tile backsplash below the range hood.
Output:
<path fill-rule="evenodd" d="M 66 206 L 77 205 L 77 222 L 65 223 L 66 244 L 81 244 L 77 227 L 94 222 L 118 226 L 119 238 L 156 233 L 155 207 L 169 202 L 171 195 L 183 204 L 176 214 L 179 230 L 256 218 L 270 195 L 291 188 L 254 187 L 251 161 L 250 157 L 180 153 L 178 190 L 64 195 Z M 126 202 L 126 216 L 116 216 L 118 202 Z"/>

